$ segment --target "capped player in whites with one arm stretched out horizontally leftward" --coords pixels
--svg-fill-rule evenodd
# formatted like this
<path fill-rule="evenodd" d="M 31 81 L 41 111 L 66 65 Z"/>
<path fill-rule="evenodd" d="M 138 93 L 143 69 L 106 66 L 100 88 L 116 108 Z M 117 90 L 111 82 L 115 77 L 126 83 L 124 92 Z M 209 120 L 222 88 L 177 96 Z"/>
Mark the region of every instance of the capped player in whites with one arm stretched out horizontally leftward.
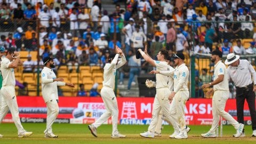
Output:
<path fill-rule="evenodd" d="M 186 119 L 185 119 L 185 106 L 189 98 L 188 91 L 188 78 L 189 70 L 184 63 L 185 55 L 183 53 L 174 54 L 174 63 L 176 65 L 173 71 L 150 71 L 151 74 L 163 74 L 173 76 L 174 90 L 169 94 L 169 100 L 171 101 L 171 114 L 174 115 L 175 122 L 179 122 L 180 131 L 174 131 L 170 138 L 175 139 L 187 139 L 188 135 L 186 130 Z M 174 97 L 175 96 L 175 97 Z M 178 118 L 178 119 L 177 119 Z M 189 129 L 189 128 L 188 128 Z"/>

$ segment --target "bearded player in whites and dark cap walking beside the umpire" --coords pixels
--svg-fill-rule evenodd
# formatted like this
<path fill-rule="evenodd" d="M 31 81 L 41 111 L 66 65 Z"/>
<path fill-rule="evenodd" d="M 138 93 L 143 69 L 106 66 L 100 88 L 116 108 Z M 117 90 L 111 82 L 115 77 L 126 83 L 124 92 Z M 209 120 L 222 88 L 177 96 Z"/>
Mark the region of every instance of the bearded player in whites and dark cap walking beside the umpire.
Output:
<path fill-rule="evenodd" d="M 226 102 L 229 96 L 228 89 L 228 73 L 224 63 L 221 62 L 222 52 L 214 50 L 211 52 L 211 61 L 214 62 L 213 82 L 203 84 L 202 89 L 213 86 L 206 95 L 213 94 L 212 98 L 212 116 L 213 122 L 209 132 L 201 134 L 205 138 L 215 138 L 216 129 L 220 121 L 220 116 L 225 118 L 236 129 L 236 134 L 233 136 L 238 138 L 243 133 L 244 124 L 238 123 L 230 114 L 225 111 Z"/>

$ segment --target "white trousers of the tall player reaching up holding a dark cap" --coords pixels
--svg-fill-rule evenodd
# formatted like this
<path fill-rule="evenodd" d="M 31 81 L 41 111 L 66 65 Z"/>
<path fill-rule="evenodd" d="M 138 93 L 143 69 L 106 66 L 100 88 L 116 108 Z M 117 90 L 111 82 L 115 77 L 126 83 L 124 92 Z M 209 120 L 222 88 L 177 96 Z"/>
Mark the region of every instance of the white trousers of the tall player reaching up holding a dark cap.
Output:
<path fill-rule="evenodd" d="M 170 113 L 170 101 L 169 95 L 171 91 L 166 88 L 156 89 L 156 97 L 153 103 L 153 112 L 150 125 L 148 127 L 149 132 L 155 132 L 155 128 L 158 122 L 159 113 L 162 109 L 164 120 L 171 124 L 175 131 L 179 131 L 179 126 L 175 123 L 175 116 Z"/>

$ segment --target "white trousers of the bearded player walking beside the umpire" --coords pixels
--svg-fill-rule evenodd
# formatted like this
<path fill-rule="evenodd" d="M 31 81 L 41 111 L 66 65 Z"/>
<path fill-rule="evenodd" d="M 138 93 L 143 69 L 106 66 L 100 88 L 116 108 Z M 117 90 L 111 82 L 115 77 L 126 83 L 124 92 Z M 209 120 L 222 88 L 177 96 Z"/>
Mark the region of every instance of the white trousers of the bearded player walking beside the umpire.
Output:
<path fill-rule="evenodd" d="M 214 91 L 212 98 L 212 116 L 213 122 L 210 132 L 214 132 L 217 129 L 217 126 L 220 121 L 220 116 L 225 118 L 231 125 L 237 129 L 239 127 L 239 123 L 225 111 L 226 102 L 228 100 L 229 91 Z"/>

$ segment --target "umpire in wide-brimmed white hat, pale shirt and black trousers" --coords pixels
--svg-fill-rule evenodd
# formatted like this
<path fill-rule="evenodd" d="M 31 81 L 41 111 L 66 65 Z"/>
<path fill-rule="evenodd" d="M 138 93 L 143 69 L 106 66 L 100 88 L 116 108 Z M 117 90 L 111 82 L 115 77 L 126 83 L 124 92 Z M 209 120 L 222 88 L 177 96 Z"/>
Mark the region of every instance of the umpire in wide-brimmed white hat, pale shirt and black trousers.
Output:
<path fill-rule="evenodd" d="M 236 85 L 236 109 L 237 121 L 244 123 L 244 101 L 246 99 L 251 120 L 252 137 L 256 137 L 256 111 L 255 111 L 255 91 L 256 91 L 256 72 L 249 61 L 240 60 L 239 55 L 230 53 L 225 61 L 228 66 L 228 79 Z M 245 135 L 243 130 L 243 135 Z"/>

